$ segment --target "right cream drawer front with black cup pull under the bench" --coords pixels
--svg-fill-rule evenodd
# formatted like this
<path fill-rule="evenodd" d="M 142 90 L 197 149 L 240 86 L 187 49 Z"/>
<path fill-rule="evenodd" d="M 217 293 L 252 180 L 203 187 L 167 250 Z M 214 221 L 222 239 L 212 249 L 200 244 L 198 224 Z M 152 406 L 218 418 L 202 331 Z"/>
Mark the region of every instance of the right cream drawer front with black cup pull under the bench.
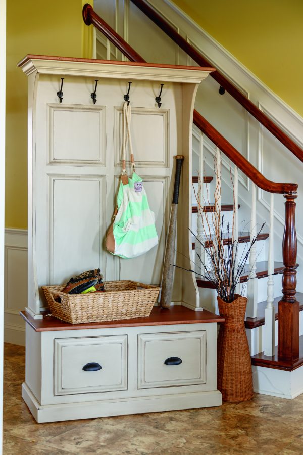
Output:
<path fill-rule="evenodd" d="M 138 389 L 206 383 L 206 331 L 138 335 Z"/>

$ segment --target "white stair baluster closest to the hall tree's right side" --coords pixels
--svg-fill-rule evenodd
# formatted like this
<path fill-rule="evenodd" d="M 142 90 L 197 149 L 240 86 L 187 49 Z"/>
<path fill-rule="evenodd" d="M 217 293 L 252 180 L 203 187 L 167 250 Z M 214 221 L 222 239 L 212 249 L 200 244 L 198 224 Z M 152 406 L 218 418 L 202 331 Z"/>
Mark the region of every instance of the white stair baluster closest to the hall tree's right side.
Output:
<path fill-rule="evenodd" d="M 202 211 L 204 206 L 204 192 L 203 192 L 203 182 L 204 182 L 204 155 L 203 155 L 203 132 L 200 131 L 200 148 L 199 148 L 199 180 L 198 180 L 198 191 L 196 194 L 197 197 L 197 204 L 200 203 L 200 210 L 198 210 L 197 216 L 197 238 L 201 242 L 204 242 L 204 229 L 205 223 L 203 220 L 204 213 Z M 204 226 L 204 227 L 203 227 Z M 200 260 L 197 255 L 200 256 L 201 261 L 205 263 L 205 250 L 201 246 L 200 242 L 195 239 L 195 254 L 194 254 L 194 262 L 195 262 L 195 271 L 197 274 L 201 273 L 201 264 Z"/>

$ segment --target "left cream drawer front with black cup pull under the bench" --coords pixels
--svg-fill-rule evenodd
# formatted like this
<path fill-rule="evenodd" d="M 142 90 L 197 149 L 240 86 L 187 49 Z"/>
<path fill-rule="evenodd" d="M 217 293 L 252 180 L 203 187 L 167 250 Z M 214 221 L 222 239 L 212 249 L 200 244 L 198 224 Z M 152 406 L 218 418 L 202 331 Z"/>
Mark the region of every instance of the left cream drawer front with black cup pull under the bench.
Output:
<path fill-rule="evenodd" d="M 54 342 L 55 395 L 127 389 L 127 335 Z M 89 371 L 92 367 L 95 370 Z"/>

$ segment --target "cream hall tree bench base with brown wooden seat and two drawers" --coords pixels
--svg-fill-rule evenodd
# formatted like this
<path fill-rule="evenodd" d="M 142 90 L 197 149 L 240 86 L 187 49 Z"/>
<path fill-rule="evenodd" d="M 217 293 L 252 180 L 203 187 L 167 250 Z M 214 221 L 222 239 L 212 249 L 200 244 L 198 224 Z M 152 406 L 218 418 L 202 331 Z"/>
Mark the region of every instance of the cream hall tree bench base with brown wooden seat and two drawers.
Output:
<path fill-rule="evenodd" d="M 222 318 L 209 311 L 154 307 L 148 318 L 77 325 L 22 316 L 22 397 L 37 422 L 221 404 L 215 351 Z"/>

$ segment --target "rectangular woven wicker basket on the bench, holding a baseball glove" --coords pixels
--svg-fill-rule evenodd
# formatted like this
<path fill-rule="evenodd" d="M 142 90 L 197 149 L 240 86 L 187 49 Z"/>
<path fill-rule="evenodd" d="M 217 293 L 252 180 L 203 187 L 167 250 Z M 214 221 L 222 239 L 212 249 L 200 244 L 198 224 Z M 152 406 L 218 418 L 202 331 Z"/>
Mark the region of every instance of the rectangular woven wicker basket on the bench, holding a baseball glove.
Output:
<path fill-rule="evenodd" d="M 147 317 L 160 292 L 157 286 L 129 280 L 106 282 L 106 292 L 71 295 L 61 292 L 64 288 L 42 286 L 52 315 L 71 324 Z M 58 296 L 61 302 L 56 302 Z"/>

